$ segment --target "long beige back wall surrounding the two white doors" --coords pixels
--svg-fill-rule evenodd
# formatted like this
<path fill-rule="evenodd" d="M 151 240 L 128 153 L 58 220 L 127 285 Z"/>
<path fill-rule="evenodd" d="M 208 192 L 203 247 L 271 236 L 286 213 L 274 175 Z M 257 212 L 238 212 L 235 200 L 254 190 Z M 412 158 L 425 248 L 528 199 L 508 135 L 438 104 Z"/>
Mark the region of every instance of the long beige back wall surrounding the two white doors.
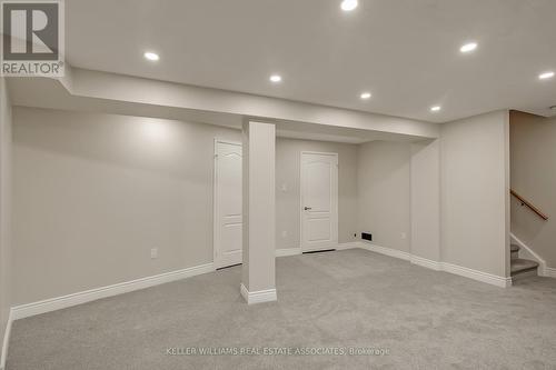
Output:
<path fill-rule="evenodd" d="M 212 261 L 214 138 L 239 130 L 21 107 L 13 124 L 14 306 Z M 277 248 L 299 246 L 301 150 L 339 153 L 351 240 L 357 146 L 278 139 Z"/>

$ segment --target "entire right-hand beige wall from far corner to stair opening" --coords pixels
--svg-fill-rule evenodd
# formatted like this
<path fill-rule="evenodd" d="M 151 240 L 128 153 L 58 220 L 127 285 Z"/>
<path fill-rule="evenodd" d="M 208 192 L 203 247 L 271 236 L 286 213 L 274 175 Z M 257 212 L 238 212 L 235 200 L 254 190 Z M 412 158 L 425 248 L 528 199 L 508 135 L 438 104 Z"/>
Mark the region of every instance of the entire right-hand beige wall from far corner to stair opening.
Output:
<path fill-rule="evenodd" d="M 358 194 L 375 244 L 507 277 L 508 112 L 445 123 L 439 140 L 360 146 Z"/>

